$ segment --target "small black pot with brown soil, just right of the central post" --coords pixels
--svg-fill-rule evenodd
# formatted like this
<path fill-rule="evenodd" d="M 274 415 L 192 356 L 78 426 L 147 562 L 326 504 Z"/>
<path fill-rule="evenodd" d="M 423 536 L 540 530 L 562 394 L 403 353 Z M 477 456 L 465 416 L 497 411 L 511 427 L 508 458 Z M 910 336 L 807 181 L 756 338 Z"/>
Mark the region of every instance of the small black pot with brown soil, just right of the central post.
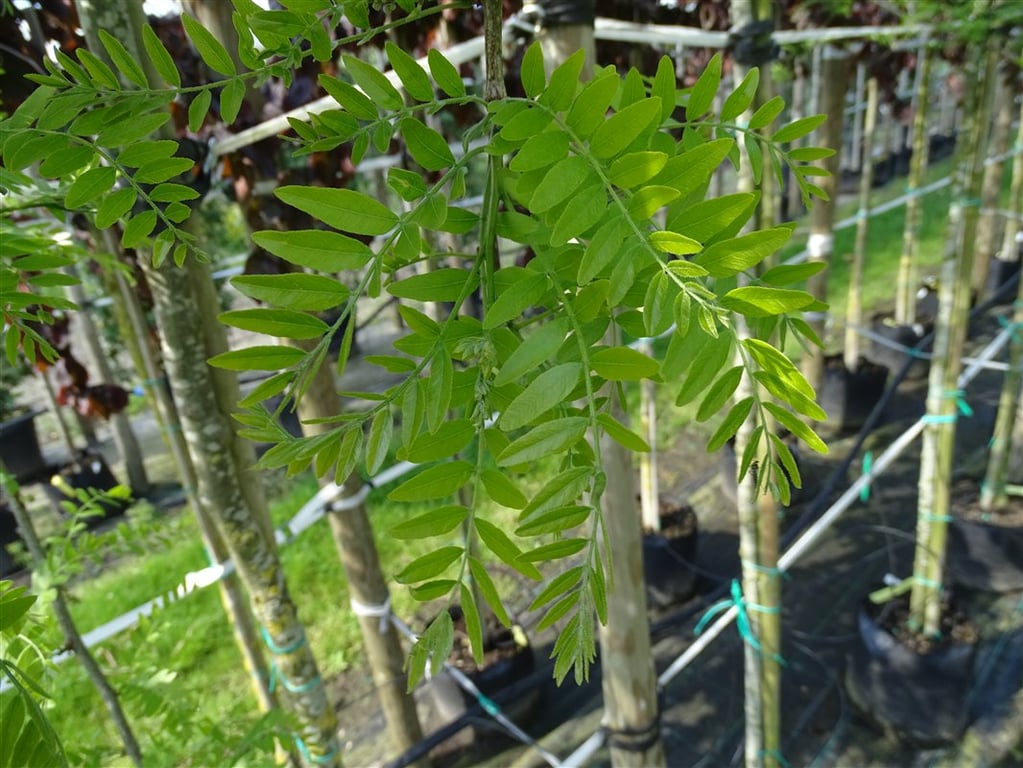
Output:
<path fill-rule="evenodd" d="M 647 601 L 659 609 L 684 602 L 696 592 L 697 515 L 688 504 L 660 503 L 661 529 L 642 537 Z"/>

